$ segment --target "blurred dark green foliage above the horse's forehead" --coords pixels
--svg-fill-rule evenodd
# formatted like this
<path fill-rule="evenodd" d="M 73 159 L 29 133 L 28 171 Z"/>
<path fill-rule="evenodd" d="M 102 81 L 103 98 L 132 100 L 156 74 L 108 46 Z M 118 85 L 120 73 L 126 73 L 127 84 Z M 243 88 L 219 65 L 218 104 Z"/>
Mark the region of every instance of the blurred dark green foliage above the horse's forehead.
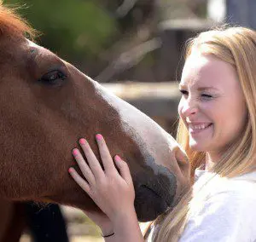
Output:
<path fill-rule="evenodd" d="M 44 47 L 62 58 L 88 59 L 99 55 L 117 33 L 115 21 L 93 0 L 7 0 L 42 33 Z"/>

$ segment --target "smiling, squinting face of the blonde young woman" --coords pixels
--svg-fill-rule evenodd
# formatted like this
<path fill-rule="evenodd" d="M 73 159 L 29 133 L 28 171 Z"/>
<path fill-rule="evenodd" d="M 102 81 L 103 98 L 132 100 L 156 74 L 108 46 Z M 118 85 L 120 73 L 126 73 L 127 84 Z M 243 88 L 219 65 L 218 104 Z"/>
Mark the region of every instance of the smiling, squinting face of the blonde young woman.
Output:
<path fill-rule="evenodd" d="M 212 55 L 193 53 L 183 67 L 178 113 L 196 151 L 222 153 L 245 125 L 247 107 L 235 68 Z"/>

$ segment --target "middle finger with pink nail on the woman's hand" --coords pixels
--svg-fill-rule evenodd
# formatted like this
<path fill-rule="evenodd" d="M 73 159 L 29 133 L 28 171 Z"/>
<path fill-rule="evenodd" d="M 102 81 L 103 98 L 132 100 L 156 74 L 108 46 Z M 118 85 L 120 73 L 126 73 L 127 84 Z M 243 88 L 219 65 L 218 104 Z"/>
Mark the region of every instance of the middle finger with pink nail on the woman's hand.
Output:
<path fill-rule="evenodd" d="M 105 176 L 102 170 L 102 166 L 97 160 L 93 151 L 91 150 L 89 143 L 83 138 L 79 140 L 79 144 L 84 151 L 84 155 L 87 158 L 88 164 L 90 166 L 90 170 L 92 171 L 94 177 L 96 179 L 99 179 L 102 176 Z"/>

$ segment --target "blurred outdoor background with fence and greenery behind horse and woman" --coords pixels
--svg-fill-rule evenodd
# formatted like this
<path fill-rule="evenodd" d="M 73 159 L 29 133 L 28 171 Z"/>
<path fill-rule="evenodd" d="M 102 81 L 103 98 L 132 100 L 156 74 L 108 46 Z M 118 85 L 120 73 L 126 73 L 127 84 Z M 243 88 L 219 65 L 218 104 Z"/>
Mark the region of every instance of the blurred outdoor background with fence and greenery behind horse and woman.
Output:
<path fill-rule="evenodd" d="M 18 12 L 38 30 L 38 44 L 73 63 L 174 136 L 184 43 L 219 23 L 256 26 L 254 0 L 4 3 L 19 7 Z M 61 211 L 70 241 L 102 241 L 98 229 L 81 211 L 67 207 Z M 27 229 L 20 241 L 34 241 L 30 234 Z"/>

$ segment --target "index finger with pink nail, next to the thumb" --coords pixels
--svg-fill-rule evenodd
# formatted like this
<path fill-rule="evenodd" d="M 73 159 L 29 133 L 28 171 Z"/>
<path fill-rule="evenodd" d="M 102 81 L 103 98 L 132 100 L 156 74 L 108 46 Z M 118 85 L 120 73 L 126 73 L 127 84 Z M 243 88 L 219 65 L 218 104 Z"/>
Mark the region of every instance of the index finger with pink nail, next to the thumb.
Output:
<path fill-rule="evenodd" d="M 100 155 L 102 158 L 102 164 L 103 164 L 106 172 L 109 172 L 109 171 L 117 172 L 117 170 L 115 169 L 114 164 L 113 164 L 113 158 L 111 157 L 111 154 L 109 153 L 108 146 L 107 146 L 103 136 L 100 134 L 96 135 L 96 141 L 97 141 Z"/>

